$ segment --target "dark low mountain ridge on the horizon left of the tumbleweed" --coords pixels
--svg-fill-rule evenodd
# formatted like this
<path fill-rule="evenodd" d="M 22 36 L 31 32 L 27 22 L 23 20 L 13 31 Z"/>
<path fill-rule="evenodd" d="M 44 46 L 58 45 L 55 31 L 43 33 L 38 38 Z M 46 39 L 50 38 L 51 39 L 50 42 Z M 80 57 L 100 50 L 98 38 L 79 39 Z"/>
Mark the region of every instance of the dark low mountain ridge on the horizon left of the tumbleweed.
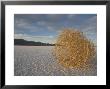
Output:
<path fill-rule="evenodd" d="M 27 41 L 24 39 L 14 39 L 14 45 L 24 45 L 24 46 L 54 46 L 55 44 Z"/>

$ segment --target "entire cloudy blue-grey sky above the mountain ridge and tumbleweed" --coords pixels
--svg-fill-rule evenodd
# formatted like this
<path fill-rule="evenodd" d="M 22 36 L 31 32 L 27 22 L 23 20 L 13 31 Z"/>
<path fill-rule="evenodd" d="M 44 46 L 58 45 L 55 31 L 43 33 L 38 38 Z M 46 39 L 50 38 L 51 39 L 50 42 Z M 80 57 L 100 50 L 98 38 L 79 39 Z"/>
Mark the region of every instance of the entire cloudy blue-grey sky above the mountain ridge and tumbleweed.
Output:
<path fill-rule="evenodd" d="M 74 28 L 96 44 L 96 14 L 15 14 L 14 38 L 55 43 L 63 28 Z"/>

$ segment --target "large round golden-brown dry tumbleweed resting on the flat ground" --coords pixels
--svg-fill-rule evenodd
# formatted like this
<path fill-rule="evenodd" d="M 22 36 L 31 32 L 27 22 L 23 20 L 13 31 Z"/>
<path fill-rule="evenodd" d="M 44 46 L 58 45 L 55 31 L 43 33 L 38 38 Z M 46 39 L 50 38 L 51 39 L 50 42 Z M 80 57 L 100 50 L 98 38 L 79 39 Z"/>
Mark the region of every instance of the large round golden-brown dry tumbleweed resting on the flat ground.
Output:
<path fill-rule="evenodd" d="M 59 35 L 54 53 L 59 63 L 67 68 L 80 68 L 87 65 L 95 54 L 94 44 L 82 32 L 64 29 Z"/>

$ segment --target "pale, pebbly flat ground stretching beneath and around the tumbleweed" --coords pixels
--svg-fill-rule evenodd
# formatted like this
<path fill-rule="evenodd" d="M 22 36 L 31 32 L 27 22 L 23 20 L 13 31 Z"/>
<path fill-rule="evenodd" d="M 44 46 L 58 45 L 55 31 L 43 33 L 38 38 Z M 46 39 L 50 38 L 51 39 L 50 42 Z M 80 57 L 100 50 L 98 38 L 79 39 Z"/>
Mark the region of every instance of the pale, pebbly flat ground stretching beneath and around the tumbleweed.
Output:
<path fill-rule="evenodd" d="M 52 54 L 54 46 L 14 46 L 15 76 L 96 76 L 96 57 L 88 69 L 66 69 Z"/>

